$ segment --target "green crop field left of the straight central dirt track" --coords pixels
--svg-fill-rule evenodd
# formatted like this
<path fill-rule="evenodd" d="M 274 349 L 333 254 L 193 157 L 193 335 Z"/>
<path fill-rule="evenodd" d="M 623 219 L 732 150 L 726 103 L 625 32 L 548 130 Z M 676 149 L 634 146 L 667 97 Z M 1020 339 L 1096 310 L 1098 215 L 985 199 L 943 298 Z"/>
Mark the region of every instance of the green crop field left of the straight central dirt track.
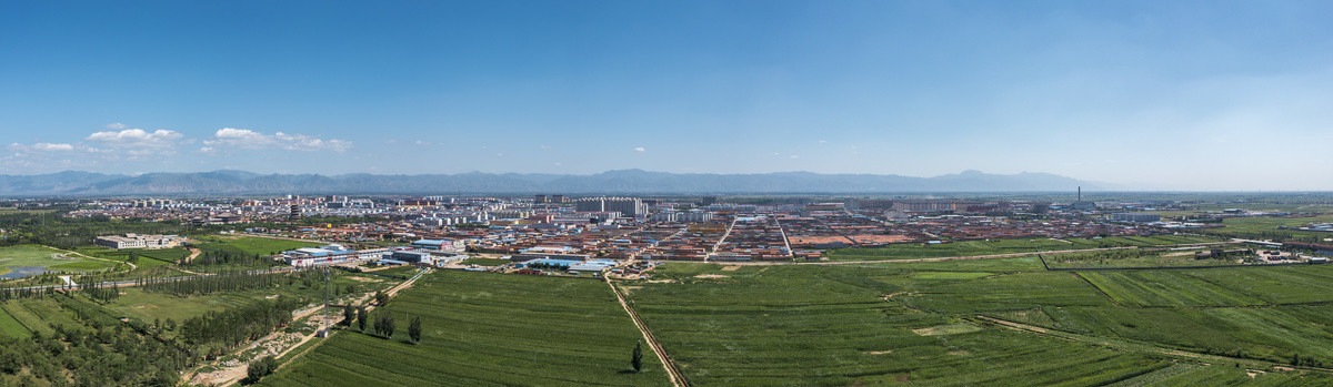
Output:
<path fill-rule="evenodd" d="M 264 386 L 668 386 L 641 335 L 600 281 L 443 270 L 423 277 L 376 315 L 392 313 L 393 339 L 344 330 Z M 408 315 L 424 339 L 407 343 Z"/>

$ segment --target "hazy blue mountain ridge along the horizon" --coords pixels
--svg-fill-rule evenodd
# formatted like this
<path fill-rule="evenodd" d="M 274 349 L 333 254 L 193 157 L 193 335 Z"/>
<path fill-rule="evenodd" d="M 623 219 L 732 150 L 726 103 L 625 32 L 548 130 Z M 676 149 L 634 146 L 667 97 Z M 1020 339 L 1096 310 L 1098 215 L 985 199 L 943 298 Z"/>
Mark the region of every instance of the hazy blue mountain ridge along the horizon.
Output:
<path fill-rule="evenodd" d="M 988 174 L 966 170 L 936 177 L 897 174 L 666 173 L 639 169 L 597 174 L 257 174 L 240 170 L 139 176 L 60 172 L 0 174 L 0 195 L 199 195 L 199 194 L 477 194 L 477 193 L 914 193 L 1056 192 L 1097 184 L 1049 173 Z"/>

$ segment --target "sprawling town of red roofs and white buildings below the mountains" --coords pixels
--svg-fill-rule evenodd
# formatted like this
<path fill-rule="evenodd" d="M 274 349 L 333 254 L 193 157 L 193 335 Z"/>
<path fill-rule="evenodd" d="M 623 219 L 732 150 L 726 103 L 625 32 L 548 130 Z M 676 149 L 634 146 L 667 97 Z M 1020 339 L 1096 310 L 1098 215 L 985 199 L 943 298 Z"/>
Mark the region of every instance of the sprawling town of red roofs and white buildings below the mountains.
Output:
<path fill-rule="evenodd" d="M 757 203 L 756 203 L 757 202 Z M 219 226 L 336 219 L 305 226 L 228 229 L 224 233 L 331 242 L 275 251 L 285 265 L 423 265 L 468 270 L 639 275 L 629 261 L 817 262 L 846 247 L 962 241 L 1206 234 L 1236 217 L 1289 215 L 1224 209 L 1162 218 L 1174 202 L 1093 202 L 1082 189 L 1066 202 L 954 198 L 800 197 L 726 201 L 718 197 L 348 197 L 287 195 L 245 199 L 93 199 L 68 217 Z M 1302 230 L 1330 230 L 1308 225 Z M 1281 243 L 1252 241 L 1256 246 Z M 1322 242 L 1322 241 L 1317 241 Z M 112 249 L 175 247 L 175 235 L 103 235 Z M 1298 243 L 1300 242 L 1290 242 Z M 1312 253 L 1333 243 L 1306 243 Z M 360 249 L 356 249 L 356 247 Z M 503 259 L 467 265 L 469 257 Z M 1262 257 L 1252 258 L 1262 263 Z M 1324 258 L 1316 257 L 1322 261 Z M 497 261 L 499 262 L 499 261 Z M 561 273 L 563 271 L 563 273 Z M 637 278 L 637 277 L 636 277 Z"/>

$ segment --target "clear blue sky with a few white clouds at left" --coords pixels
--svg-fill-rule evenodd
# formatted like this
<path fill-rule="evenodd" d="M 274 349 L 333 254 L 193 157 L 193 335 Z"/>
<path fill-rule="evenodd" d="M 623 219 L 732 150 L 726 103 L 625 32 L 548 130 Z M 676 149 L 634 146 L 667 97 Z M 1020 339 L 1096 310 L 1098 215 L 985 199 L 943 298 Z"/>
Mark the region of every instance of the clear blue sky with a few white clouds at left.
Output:
<path fill-rule="evenodd" d="M 1333 189 L 1328 1 L 5 1 L 4 173 Z"/>

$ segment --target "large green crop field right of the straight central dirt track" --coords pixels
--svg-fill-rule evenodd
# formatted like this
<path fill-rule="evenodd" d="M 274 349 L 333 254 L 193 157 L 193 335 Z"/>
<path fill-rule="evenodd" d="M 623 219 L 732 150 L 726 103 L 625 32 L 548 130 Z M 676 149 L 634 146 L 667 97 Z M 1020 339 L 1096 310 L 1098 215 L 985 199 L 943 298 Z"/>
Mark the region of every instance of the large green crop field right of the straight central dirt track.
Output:
<path fill-rule="evenodd" d="M 1097 273 L 1104 277 L 1098 281 L 1117 283 L 1108 289 L 1122 289 L 1124 299 L 1152 307 L 1117 305 L 1080 277 L 1086 273 L 1044 271 L 1034 257 L 725 271 L 668 263 L 653 271 L 655 279 L 666 281 L 623 287 L 698 386 L 1330 382 L 1321 372 L 1272 368 L 1252 379 L 1233 363 L 1161 354 L 1185 350 L 1274 363 L 1293 355 L 1333 359 L 1333 331 L 1325 328 L 1333 326 L 1333 306 L 1262 307 L 1264 298 L 1185 274 L 1270 269 L 1278 267 Z M 1130 286 L 1134 282 L 1184 282 L 1157 285 L 1182 295 Z M 1213 294 L 1221 297 L 1206 302 Z M 1016 331 L 977 315 L 1089 339 Z"/>

